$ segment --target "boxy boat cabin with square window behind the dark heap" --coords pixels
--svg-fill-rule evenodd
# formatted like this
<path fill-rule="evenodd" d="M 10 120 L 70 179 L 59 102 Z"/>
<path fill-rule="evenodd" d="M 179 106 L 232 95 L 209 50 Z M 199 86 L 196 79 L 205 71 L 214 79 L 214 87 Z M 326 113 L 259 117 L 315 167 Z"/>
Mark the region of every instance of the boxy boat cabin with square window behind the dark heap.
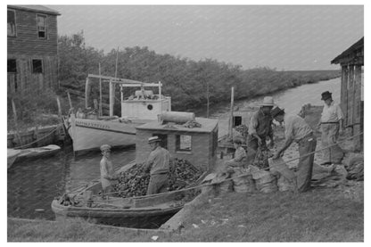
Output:
<path fill-rule="evenodd" d="M 217 160 L 218 119 L 195 118 L 195 121 L 201 128 L 161 124 L 157 120 L 136 127 L 136 163 L 146 161 L 151 152 L 148 138 L 159 136 L 161 146 L 173 158 L 185 159 L 202 171 L 212 169 Z"/>

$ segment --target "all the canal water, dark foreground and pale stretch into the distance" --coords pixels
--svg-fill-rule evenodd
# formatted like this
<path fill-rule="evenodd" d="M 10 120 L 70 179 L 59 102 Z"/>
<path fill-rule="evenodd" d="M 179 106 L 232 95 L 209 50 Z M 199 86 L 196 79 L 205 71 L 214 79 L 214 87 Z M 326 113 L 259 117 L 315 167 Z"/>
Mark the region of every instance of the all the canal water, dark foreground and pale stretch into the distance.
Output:
<path fill-rule="evenodd" d="M 274 95 L 275 102 L 288 113 L 297 113 L 306 103 L 321 105 L 321 93 L 333 93 L 334 101 L 340 102 L 340 78 L 284 90 Z M 251 100 L 240 100 L 235 106 L 256 105 L 263 96 Z M 198 116 L 203 113 L 197 113 Z M 202 110 L 201 110 L 202 112 Z M 220 119 L 219 136 L 227 134 L 229 103 L 210 109 L 211 118 Z M 99 179 L 99 152 L 89 153 L 75 159 L 71 153 L 60 152 L 57 156 L 37 161 L 13 164 L 8 169 L 8 216 L 18 218 L 54 219 L 50 204 L 54 197 L 84 185 L 87 181 Z M 111 155 L 115 168 L 135 159 L 135 150 L 114 151 Z"/>

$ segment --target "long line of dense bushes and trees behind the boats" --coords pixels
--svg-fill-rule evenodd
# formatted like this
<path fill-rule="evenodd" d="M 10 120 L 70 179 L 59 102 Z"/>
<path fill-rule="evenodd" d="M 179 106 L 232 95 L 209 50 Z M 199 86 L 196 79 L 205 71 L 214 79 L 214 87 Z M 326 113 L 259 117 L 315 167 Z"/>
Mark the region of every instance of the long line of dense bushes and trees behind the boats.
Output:
<path fill-rule="evenodd" d="M 87 74 L 98 74 L 99 62 L 102 75 L 115 75 L 117 50 L 112 49 L 110 53 L 104 54 L 103 51 L 86 46 L 82 33 L 59 37 L 58 50 L 62 90 L 70 89 L 70 92 L 80 92 L 83 95 Z M 121 49 L 117 66 L 118 78 L 143 82 L 161 81 L 162 93 L 172 97 L 173 111 L 203 107 L 207 103 L 207 86 L 212 104 L 229 101 L 231 86 L 235 86 L 235 99 L 242 99 L 339 76 L 340 70 L 243 70 L 240 65 L 212 59 L 196 62 L 169 54 L 156 54 L 147 47 L 138 46 Z M 95 97 L 98 97 L 97 85 L 93 88 Z M 107 94 L 108 86 L 105 87 L 103 92 Z M 118 91 L 117 99 L 120 98 Z M 128 95 L 132 91 L 124 93 Z"/>

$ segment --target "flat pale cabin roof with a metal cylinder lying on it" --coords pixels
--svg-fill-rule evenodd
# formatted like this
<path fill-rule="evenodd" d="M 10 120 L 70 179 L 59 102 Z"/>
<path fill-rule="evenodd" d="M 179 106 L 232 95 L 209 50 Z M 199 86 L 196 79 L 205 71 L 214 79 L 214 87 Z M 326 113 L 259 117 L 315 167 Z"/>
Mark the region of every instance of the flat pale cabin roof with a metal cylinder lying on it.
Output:
<path fill-rule="evenodd" d="M 144 125 L 137 126 L 136 129 L 143 130 L 164 130 L 164 131 L 177 131 L 177 132 L 188 132 L 188 133 L 210 133 L 218 126 L 218 119 L 205 119 L 195 118 L 195 121 L 200 123 L 201 128 L 185 128 L 182 124 L 167 125 L 161 124 L 157 120 L 153 120 Z"/>

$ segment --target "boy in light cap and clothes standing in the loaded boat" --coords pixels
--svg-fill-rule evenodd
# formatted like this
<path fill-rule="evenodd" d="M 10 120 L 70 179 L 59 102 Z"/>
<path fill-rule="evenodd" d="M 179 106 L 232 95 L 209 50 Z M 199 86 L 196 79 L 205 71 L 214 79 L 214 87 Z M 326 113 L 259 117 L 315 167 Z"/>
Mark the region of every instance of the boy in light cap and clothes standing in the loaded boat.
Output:
<path fill-rule="evenodd" d="M 111 162 L 111 146 L 109 144 L 103 144 L 101 146 L 101 152 L 103 155 L 100 163 L 103 193 L 111 193 L 112 185 L 118 179 L 114 174 Z"/>

